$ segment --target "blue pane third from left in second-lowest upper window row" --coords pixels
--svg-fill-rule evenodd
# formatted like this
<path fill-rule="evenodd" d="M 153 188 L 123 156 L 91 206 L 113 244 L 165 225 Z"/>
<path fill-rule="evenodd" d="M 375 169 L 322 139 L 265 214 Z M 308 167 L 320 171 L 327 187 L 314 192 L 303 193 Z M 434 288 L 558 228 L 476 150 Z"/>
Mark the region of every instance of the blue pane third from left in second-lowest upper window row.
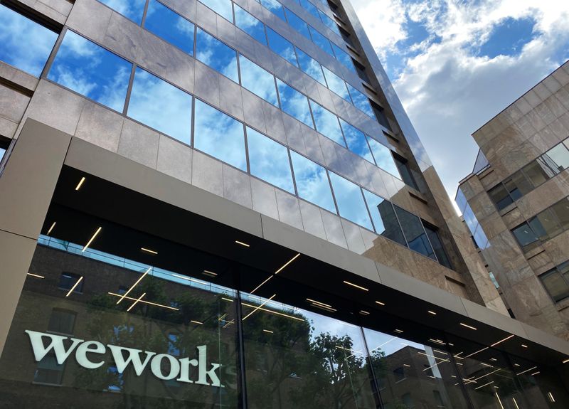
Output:
<path fill-rule="evenodd" d="M 196 58 L 235 83 L 239 83 L 237 52 L 201 28 L 198 28 L 197 36 Z"/>

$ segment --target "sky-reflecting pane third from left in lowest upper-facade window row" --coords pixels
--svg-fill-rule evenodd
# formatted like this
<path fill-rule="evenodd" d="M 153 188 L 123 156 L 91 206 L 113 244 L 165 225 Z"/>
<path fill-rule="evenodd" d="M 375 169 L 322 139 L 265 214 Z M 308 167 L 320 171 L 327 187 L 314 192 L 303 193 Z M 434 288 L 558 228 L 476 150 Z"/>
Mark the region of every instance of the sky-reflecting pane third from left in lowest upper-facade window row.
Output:
<path fill-rule="evenodd" d="M 190 144 L 191 95 L 137 68 L 127 115 Z"/>

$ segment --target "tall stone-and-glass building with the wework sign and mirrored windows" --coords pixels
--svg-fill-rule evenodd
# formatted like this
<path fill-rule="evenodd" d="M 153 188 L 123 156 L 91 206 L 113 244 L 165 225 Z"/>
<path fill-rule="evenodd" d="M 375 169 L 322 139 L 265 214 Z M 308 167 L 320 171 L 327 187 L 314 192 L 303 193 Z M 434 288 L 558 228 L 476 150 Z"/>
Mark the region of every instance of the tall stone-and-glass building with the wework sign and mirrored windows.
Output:
<path fill-rule="evenodd" d="M 568 344 L 507 317 L 349 2 L 9 1 L 0 21 L 3 402 L 499 409 L 458 375 L 491 351 L 541 373 L 541 400 L 524 373 L 506 400 L 565 404 Z M 65 365 L 23 333 L 72 326 L 89 350 Z M 389 339 L 441 355 L 382 380 L 415 351 L 374 355 Z"/>

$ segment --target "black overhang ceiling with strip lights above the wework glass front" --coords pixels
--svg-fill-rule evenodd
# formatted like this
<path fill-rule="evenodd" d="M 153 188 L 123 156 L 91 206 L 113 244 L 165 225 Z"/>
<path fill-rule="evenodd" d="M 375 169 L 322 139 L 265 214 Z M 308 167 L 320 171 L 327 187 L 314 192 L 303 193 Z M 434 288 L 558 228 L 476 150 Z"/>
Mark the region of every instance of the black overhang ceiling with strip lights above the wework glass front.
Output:
<path fill-rule="evenodd" d="M 85 182 L 76 191 L 83 176 Z M 85 245 L 97 228 L 102 227 L 100 235 L 91 244 L 95 250 L 244 292 L 251 292 L 297 255 L 270 241 L 68 166 L 64 166 L 60 175 L 43 234 L 54 221 L 57 228 L 51 235 L 55 238 Z M 235 240 L 250 247 L 239 245 Z M 149 248 L 158 254 L 144 253 L 141 248 Z M 218 276 L 206 278 L 203 270 L 216 272 Z M 468 319 L 467 324 L 477 330 L 469 329 L 459 324 L 465 320 L 460 314 L 306 255 L 297 257 L 278 276 L 280 280 L 269 280 L 255 294 L 267 298 L 277 294 L 275 300 L 278 302 L 303 309 L 310 309 L 307 298 L 317 299 L 333 305 L 337 311 L 312 308 L 315 312 L 439 348 L 440 345 L 429 339 L 445 339 L 439 331 L 444 330 L 459 337 L 453 339 L 454 346 L 447 346 L 454 353 L 464 351 L 467 355 L 479 350 L 480 344 L 488 346 L 510 335 L 472 319 Z M 344 280 L 368 291 L 346 285 Z M 385 306 L 376 304 L 376 300 Z M 370 314 L 363 315 L 361 310 Z M 437 314 L 430 314 L 429 310 Z M 395 329 L 404 333 L 396 334 Z M 477 344 L 469 339 L 476 339 Z M 528 348 L 521 346 L 522 343 Z M 518 337 L 504 341 L 497 348 L 545 364 L 560 363 L 565 358 Z M 490 353 L 481 353 L 480 358 Z"/>

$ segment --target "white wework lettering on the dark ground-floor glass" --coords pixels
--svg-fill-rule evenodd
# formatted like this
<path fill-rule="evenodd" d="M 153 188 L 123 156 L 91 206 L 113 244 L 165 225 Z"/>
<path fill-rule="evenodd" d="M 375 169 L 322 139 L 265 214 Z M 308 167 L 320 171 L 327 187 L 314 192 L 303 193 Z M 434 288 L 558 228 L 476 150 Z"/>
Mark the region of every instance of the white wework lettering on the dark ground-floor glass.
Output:
<path fill-rule="evenodd" d="M 219 368 L 220 364 L 211 363 L 211 368 L 207 371 L 208 347 L 206 345 L 196 347 L 198 349 L 198 359 L 190 359 L 175 358 L 169 354 L 156 354 L 156 352 L 125 348 L 124 346 L 104 345 L 98 341 L 84 341 L 83 339 L 70 338 L 69 336 L 45 334 L 28 329 L 26 329 L 26 334 L 30 337 L 33 355 L 37 362 L 41 361 L 50 351 L 53 351 L 58 364 L 62 365 L 75 351 L 75 361 L 80 366 L 86 369 L 96 369 L 105 364 L 102 356 L 109 349 L 119 373 L 123 373 L 128 366 L 132 366 L 134 373 L 140 376 L 144 368 L 150 364 L 150 371 L 154 376 L 164 381 L 175 378 L 179 382 L 224 388 L 216 374 L 216 369 Z M 44 339 L 48 339 L 47 346 L 44 344 Z M 70 339 L 71 344 L 65 347 L 64 341 L 67 339 Z M 164 360 L 169 363 L 169 369 L 166 370 L 166 373 L 163 372 L 162 366 Z M 189 377 L 191 366 L 198 367 L 198 379 L 195 381 L 192 381 Z"/>

